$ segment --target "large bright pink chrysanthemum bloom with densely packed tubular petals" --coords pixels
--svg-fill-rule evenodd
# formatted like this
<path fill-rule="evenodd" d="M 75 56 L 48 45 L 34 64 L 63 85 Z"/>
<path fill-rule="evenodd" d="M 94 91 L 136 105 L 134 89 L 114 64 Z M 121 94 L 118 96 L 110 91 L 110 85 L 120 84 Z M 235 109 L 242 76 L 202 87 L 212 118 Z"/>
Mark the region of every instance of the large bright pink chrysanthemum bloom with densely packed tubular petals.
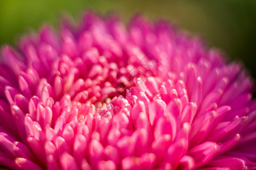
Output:
<path fill-rule="evenodd" d="M 250 76 L 164 21 L 44 27 L 0 88 L 0 168 L 256 169 Z"/>

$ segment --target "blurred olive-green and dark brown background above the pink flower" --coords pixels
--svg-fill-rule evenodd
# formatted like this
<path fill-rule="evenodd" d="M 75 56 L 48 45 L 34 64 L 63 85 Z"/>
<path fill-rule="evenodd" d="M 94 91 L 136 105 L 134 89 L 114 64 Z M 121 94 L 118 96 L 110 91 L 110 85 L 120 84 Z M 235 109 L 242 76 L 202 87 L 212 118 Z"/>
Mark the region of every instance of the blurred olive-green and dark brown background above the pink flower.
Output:
<path fill-rule="evenodd" d="M 15 45 L 28 30 L 38 30 L 45 22 L 57 27 L 63 12 L 78 19 L 85 9 L 101 14 L 118 12 L 127 22 L 136 12 L 148 18 L 171 20 L 180 28 L 203 38 L 209 46 L 224 51 L 230 58 L 242 60 L 256 77 L 256 1 L 56 1 L 0 0 L 0 45 Z"/>

